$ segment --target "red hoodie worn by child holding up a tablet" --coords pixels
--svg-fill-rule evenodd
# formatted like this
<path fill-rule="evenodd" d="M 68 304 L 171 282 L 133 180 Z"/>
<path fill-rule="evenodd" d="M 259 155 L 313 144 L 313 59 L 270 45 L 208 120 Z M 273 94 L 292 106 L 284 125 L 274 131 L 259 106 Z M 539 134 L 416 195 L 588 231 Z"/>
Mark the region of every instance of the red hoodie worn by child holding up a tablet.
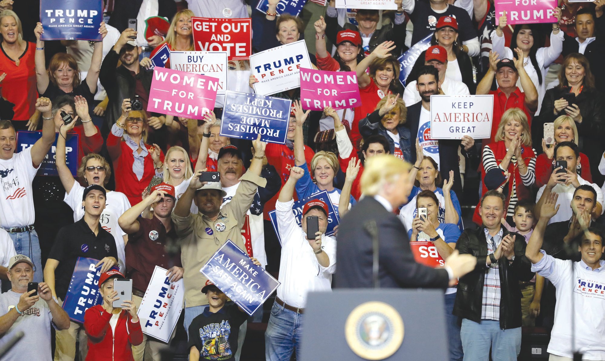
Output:
<path fill-rule="evenodd" d="M 122 310 L 114 337 L 110 326 L 111 316 L 102 305 L 88 308 L 84 313 L 84 328 L 88 335 L 86 361 L 134 361 L 131 346 L 143 342 L 140 322 L 132 322 L 128 311 Z"/>

